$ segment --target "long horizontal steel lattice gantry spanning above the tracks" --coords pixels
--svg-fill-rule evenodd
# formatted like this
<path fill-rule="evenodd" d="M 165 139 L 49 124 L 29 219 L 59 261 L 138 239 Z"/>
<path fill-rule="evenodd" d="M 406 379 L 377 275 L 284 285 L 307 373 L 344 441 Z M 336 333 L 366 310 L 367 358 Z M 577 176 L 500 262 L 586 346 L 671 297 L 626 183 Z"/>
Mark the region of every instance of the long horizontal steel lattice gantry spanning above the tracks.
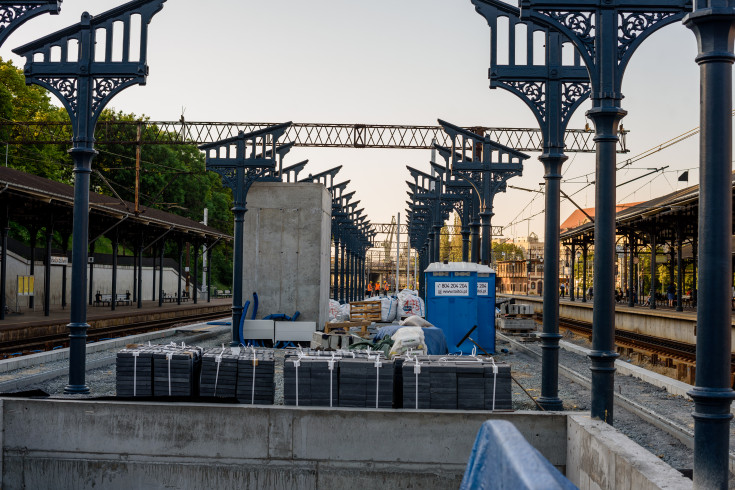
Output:
<path fill-rule="evenodd" d="M 95 130 L 97 144 L 119 145 L 200 145 L 252 133 L 273 123 L 252 122 L 186 122 L 186 121 L 101 121 Z M 8 130 L 10 144 L 70 144 L 71 125 L 59 122 L 0 121 Z M 469 128 L 493 141 L 519 151 L 541 151 L 543 135 L 538 129 Z M 568 152 L 595 151 L 594 133 L 570 129 L 564 134 Z M 430 150 L 434 141 L 447 146 L 449 139 L 440 126 L 381 124 L 317 124 L 294 123 L 283 142 L 298 147 L 317 148 L 382 148 Z M 627 153 L 625 133 L 620 134 L 620 153 Z"/>

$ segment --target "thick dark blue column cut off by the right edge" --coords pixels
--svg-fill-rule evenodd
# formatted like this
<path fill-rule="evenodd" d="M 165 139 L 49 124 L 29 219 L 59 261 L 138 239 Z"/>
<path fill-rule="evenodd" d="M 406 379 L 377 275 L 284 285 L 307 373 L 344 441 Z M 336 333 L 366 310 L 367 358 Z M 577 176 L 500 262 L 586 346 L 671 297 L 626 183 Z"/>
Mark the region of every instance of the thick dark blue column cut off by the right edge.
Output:
<path fill-rule="evenodd" d="M 684 19 L 700 69 L 699 277 L 694 399 L 694 486 L 727 488 L 732 235 L 732 64 L 735 1 L 696 0 Z M 723 205 L 727 203 L 728 205 Z M 696 255 L 695 255 L 696 257 Z M 696 288 L 696 283 L 695 283 Z"/>

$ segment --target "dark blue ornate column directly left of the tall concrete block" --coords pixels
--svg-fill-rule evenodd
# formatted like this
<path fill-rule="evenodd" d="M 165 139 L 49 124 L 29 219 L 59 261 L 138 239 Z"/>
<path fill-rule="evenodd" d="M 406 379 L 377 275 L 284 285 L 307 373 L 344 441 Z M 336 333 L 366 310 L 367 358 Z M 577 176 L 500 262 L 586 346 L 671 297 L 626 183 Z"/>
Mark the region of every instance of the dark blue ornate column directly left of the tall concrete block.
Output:
<path fill-rule="evenodd" d="M 277 147 L 278 139 L 291 126 L 290 122 L 270 126 L 259 131 L 226 138 L 215 143 L 199 146 L 206 154 L 207 170 L 222 177 L 222 183 L 232 189 L 235 215 L 235 247 L 232 260 L 232 341 L 231 346 L 240 345 L 240 322 L 242 320 L 242 277 L 243 277 L 243 234 L 247 194 L 253 183 L 276 167 L 276 157 L 282 156 L 290 147 Z M 198 248 L 195 248 L 198 250 Z M 196 259 L 194 260 L 194 302 L 196 302 Z"/>

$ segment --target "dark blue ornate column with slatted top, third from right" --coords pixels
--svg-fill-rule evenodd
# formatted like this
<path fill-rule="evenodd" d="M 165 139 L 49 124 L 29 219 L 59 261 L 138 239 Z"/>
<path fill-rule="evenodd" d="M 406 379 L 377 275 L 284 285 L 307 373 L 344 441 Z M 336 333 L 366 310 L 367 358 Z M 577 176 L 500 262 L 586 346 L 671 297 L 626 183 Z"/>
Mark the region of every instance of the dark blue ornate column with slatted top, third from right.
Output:
<path fill-rule="evenodd" d="M 570 40 L 559 31 L 521 21 L 520 11 L 499 0 L 473 0 L 475 9 L 490 26 L 490 88 L 502 88 L 520 97 L 531 109 L 543 134 L 546 206 L 544 223 L 544 302 L 542 338 L 542 382 L 539 404 L 546 410 L 561 410 L 558 390 L 559 365 L 559 225 L 560 182 L 564 154 L 564 131 L 574 111 L 590 95 L 587 69 L 580 54 L 574 50 L 571 60 L 563 60 L 564 44 Z M 501 37 L 498 20 L 509 22 L 505 38 Z M 525 27 L 525 39 L 519 39 L 520 26 Z M 543 46 L 534 42 L 537 34 Z M 516 47 L 525 41 L 525 59 L 517 56 Z M 504 50 L 504 51 L 503 51 Z M 501 63 L 501 54 L 507 63 Z M 539 63 L 544 57 L 543 64 Z M 531 64 L 529 60 L 534 60 Z"/>

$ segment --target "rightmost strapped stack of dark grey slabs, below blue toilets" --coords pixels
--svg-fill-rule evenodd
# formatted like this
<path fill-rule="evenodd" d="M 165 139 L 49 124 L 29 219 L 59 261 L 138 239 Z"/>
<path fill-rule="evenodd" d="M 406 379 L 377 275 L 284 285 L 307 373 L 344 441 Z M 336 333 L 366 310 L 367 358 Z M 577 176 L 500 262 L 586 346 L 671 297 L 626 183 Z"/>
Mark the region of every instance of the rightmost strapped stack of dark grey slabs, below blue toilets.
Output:
<path fill-rule="evenodd" d="M 509 364 L 488 357 L 418 356 L 396 360 L 396 365 L 401 370 L 403 408 L 512 408 Z"/>

